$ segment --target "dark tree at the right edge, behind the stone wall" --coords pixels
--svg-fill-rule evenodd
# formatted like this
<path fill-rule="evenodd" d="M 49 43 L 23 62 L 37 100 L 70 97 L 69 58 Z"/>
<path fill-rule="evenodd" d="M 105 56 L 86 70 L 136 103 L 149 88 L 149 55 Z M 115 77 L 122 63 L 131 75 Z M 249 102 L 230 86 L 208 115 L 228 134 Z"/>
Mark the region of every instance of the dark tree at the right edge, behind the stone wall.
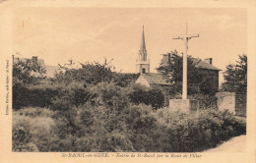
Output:
<path fill-rule="evenodd" d="M 235 65 L 229 64 L 224 71 L 224 83 L 222 89 L 236 93 L 247 91 L 247 56 L 238 55 Z"/>

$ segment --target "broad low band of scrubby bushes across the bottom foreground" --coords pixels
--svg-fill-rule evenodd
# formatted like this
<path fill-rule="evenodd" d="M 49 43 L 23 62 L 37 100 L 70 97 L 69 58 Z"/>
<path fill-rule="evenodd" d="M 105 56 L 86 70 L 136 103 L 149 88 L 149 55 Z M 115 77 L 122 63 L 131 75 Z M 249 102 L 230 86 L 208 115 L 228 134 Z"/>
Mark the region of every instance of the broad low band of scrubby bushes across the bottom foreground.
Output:
<path fill-rule="evenodd" d="M 24 109 L 14 112 L 13 151 L 195 152 L 246 133 L 243 119 L 211 109 L 181 113 L 140 104 L 110 112 L 89 102 L 65 111 Z"/>

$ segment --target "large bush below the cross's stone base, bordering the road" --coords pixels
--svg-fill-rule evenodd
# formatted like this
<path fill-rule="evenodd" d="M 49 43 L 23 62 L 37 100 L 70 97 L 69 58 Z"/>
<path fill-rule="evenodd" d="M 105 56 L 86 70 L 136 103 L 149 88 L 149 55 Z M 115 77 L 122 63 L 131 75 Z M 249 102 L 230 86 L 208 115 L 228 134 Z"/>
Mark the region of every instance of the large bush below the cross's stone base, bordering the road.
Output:
<path fill-rule="evenodd" d="M 163 151 L 202 151 L 232 136 L 245 134 L 246 128 L 245 122 L 218 110 L 185 114 L 160 109 L 156 118 L 168 136 L 168 145 Z"/>

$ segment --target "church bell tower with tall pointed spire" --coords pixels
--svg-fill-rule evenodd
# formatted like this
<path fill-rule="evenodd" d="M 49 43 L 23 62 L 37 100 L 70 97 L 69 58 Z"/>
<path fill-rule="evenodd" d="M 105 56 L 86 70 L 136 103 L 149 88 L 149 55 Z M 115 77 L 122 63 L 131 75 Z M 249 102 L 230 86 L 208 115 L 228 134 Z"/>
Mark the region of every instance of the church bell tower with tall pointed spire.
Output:
<path fill-rule="evenodd" d="M 150 59 L 147 59 L 147 50 L 144 35 L 144 26 L 142 30 L 142 42 L 139 50 L 139 57 L 136 60 L 137 73 L 146 74 L 150 73 Z"/>

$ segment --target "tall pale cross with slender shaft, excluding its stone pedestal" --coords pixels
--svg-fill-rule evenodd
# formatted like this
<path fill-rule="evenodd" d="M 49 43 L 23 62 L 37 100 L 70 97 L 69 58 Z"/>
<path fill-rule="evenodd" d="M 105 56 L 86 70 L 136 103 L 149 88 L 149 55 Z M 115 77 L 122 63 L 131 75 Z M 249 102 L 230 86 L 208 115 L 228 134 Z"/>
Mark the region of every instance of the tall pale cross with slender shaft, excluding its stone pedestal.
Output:
<path fill-rule="evenodd" d="M 182 39 L 185 44 L 185 49 L 183 52 L 183 82 L 182 82 L 182 99 L 187 99 L 187 51 L 188 51 L 188 40 L 193 37 L 199 37 L 197 35 L 188 35 L 187 33 L 187 23 L 186 23 L 186 33 L 184 36 L 173 37 L 173 39 Z"/>

